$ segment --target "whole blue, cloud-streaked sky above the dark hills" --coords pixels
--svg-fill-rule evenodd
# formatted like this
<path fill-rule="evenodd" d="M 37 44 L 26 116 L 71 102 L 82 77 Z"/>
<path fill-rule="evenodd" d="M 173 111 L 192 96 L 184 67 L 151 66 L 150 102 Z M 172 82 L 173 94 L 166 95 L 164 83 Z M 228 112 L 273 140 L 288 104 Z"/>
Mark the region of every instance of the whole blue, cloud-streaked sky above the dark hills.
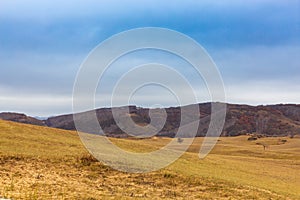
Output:
<path fill-rule="evenodd" d="M 141 27 L 172 29 L 201 44 L 222 76 L 226 102 L 299 104 L 299 13 L 300 0 L 1 0 L 0 112 L 71 113 L 76 75 L 90 51 L 114 34 Z M 120 76 L 147 62 L 174 67 L 197 88 L 199 102 L 210 101 L 205 83 L 187 63 L 146 50 L 111 65 L 96 106 L 109 106 Z M 144 107 L 177 102 L 157 85 L 134 94 L 129 103 Z"/>

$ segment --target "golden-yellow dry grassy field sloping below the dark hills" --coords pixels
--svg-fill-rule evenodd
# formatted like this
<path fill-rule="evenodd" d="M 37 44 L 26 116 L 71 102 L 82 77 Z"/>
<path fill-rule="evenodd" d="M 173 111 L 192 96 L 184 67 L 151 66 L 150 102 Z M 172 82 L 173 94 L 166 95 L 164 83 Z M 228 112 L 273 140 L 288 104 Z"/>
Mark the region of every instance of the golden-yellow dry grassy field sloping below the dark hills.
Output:
<path fill-rule="evenodd" d="M 220 138 L 202 160 L 203 139 L 196 138 L 172 165 L 130 174 L 97 162 L 76 132 L 0 120 L 0 197 L 300 199 L 300 138 L 248 137 Z M 145 152 L 171 139 L 111 140 L 128 151 Z"/>

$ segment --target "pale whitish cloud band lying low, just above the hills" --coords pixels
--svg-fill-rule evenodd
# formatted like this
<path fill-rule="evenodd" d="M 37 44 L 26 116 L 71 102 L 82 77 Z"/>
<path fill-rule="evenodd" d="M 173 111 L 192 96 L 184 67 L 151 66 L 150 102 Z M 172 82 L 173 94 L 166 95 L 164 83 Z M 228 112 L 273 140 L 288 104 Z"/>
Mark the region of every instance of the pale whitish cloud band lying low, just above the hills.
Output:
<path fill-rule="evenodd" d="M 175 96 L 162 88 L 144 88 L 138 91 L 130 99 L 127 95 L 117 96 L 114 105 L 130 104 L 151 107 L 160 104 L 164 107 L 179 105 Z M 226 100 L 229 103 L 238 104 L 276 104 L 276 103 L 299 103 L 300 86 L 282 81 L 248 81 L 231 84 L 225 87 Z M 72 113 L 72 96 L 58 94 L 22 93 L 15 88 L 8 91 L 0 89 L 0 110 L 27 113 L 32 116 L 53 116 L 58 114 Z M 176 94 L 189 101 L 190 96 L 185 94 L 183 88 Z M 207 91 L 199 88 L 196 91 L 199 102 L 210 101 Z M 96 95 L 96 107 L 110 107 L 111 96 L 107 93 Z M 194 101 L 191 101 L 194 103 Z"/>

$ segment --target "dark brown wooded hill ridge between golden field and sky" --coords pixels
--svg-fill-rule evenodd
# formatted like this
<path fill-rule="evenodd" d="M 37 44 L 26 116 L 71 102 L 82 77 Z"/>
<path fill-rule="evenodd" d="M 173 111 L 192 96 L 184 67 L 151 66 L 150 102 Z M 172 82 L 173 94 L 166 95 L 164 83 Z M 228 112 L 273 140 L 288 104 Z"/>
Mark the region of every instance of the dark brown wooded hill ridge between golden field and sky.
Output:
<path fill-rule="evenodd" d="M 211 103 L 200 103 L 200 123 L 197 136 L 205 136 L 210 123 Z M 118 107 L 124 109 L 124 107 Z M 180 126 L 180 107 L 165 108 L 167 119 L 164 127 L 157 136 L 174 137 Z M 111 137 L 127 137 L 116 124 L 111 108 L 100 108 L 94 110 L 104 133 Z M 84 123 L 89 123 L 90 113 L 76 114 Z M 134 122 L 146 125 L 150 122 L 149 108 L 129 106 L 129 114 Z M 156 116 L 160 117 L 160 116 Z M 162 117 L 162 116 L 161 116 Z M 47 120 L 38 120 L 24 114 L 0 113 L 0 119 L 28 123 L 40 126 L 48 126 L 66 130 L 75 130 L 72 114 L 50 117 Z M 192 123 L 189 119 L 185 123 Z M 98 133 L 92 126 L 87 132 Z M 227 104 L 227 115 L 222 136 L 238 136 L 245 134 L 261 134 L 266 136 L 287 136 L 300 134 L 300 105 L 277 104 L 267 106 L 250 106 Z"/>

